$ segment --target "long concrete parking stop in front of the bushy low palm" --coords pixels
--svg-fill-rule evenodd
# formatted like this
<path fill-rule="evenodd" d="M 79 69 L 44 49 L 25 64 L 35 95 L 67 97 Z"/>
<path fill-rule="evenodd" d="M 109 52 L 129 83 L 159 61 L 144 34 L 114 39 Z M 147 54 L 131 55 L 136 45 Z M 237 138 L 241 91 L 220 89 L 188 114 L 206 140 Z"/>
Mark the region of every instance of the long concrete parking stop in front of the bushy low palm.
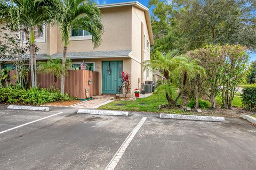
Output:
<path fill-rule="evenodd" d="M 161 113 L 160 118 L 172 118 L 191 121 L 210 121 L 210 122 L 226 122 L 225 117 L 218 116 L 197 116 L 197 115 L 180 115 Z"/>

